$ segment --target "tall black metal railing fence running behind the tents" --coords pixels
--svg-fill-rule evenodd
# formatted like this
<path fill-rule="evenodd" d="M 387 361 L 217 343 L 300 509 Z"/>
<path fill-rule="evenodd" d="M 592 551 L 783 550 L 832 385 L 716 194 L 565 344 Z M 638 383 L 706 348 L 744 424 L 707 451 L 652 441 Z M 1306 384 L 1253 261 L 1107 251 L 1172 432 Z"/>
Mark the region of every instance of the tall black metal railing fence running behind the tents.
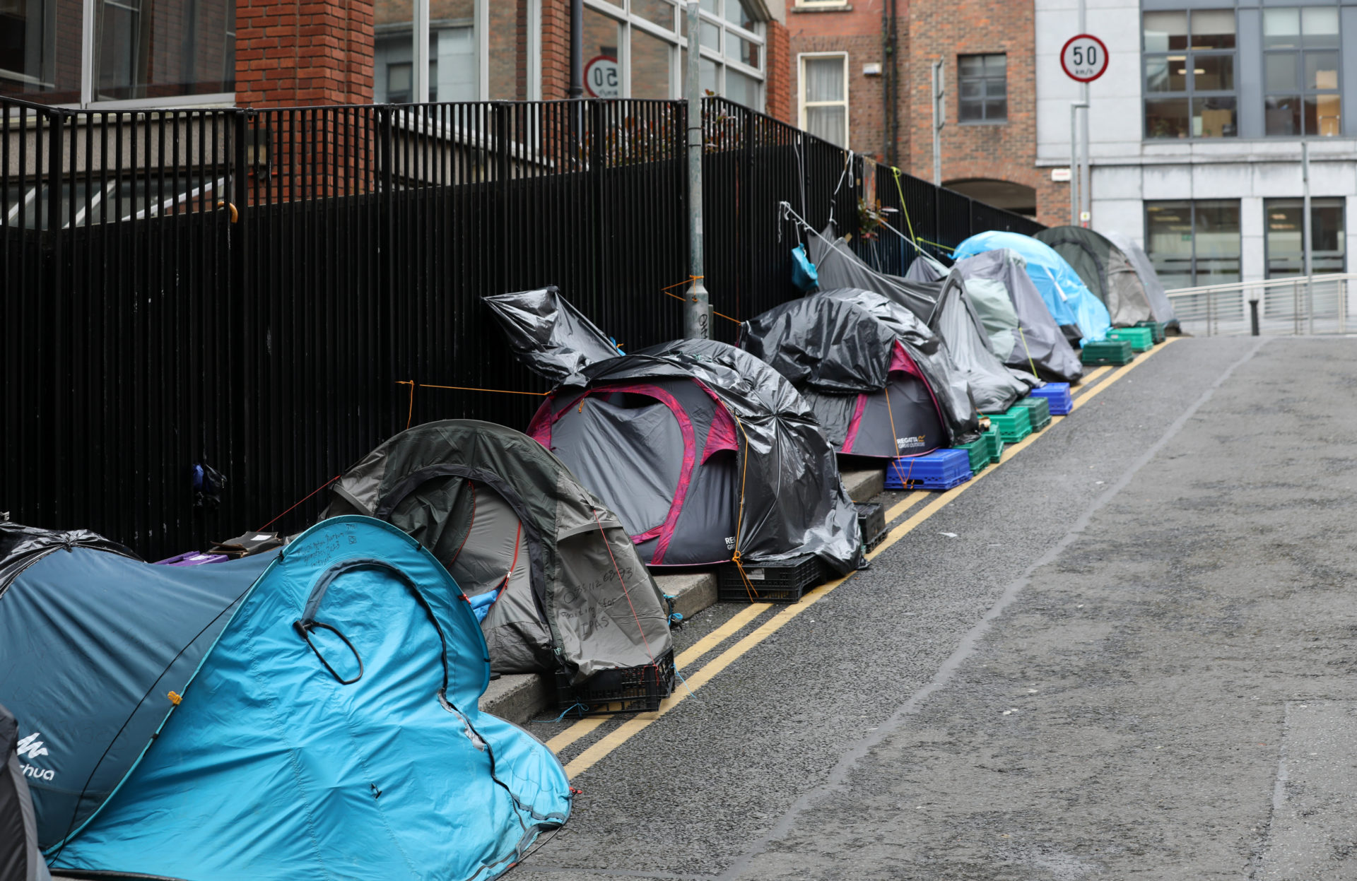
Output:
<path fill-rule="evenodd" d="M 555 284 L 626 350 L 680 335 L 685 129 L 665 100 L 0 99 L 0 510 L 155 558 L 265 525 L 407 424 L 522 428 L 537 400 L 510 392 L 546 387 L 480 296 Z M 797 296 L 780 202 L 893 273 L 916 246 L 862 227 L 863 205 L 908 210 L 942 252 L 1039 228 L 722 99 L 703 133 L 704 282 L 730 319 Z M 198 466 L 225 475 L 220 501 Z"/>

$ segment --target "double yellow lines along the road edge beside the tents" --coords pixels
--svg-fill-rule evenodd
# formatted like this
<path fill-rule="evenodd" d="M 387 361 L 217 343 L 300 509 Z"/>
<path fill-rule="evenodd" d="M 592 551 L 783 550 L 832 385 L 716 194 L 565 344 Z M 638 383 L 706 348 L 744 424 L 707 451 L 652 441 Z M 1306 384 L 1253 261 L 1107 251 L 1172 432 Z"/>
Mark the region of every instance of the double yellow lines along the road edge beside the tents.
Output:
<path fill-rule="evenodd" d="M 1128 365 L 1117 369 L 1115 372 L 1113 372 L 1111 376 L 1109 376 L 1105 381 L 1102 381 L 1098 386 L 1096 391 L 1102 391 L 1107 386 L 1115 383 L 1122 376 L 1125 376 L 1126 373 L 1129 373 L 1136 367 L 1144 364 L 1148 360 L 1148 356 L 1152 356 L 1155 352 L 1159 352 L 1159 349 L 1163 348 L 1164 345 L 1167 345 L 1167 342 L 1172 342 L 1172 339 L 1168 339 L 1164 343 L 1160 343 L 1159 346 L 1156 346 L 1155 349 L 1151 349 L 1149 352 L 1147 352 L 1145 353 L 1147 357 L 1136 358 L 1130 364 L 1128 364 Z M 1091 396 L 1092 395 L 1090 394 L 1088 398 L 1091 398 Z M 1087 400 L 1087 398 L 1082 398 L 1079 402 L 1076 402 L 1075 403 L 1075 409 L 1077 409 L 1079 405 L 1083 403 L 1083 400 Z M 1042 432 L 1034 433 L 1034 434 L 1029 434 L 1027 437 L 1022 438 L 1016 444 L 1006 444 L 1004 445 L 1004 453 L 1000 457 L 999 464 L 1003 464 L 1003 463 L 1008 462 L 1010 459 L 1012 459 L 1015 455 L 1018 455 L 1019 452 L 1022 452 L 1023 449 L 1026 449 L 1029 445 L 1031 445 L 1038 437 L 1045 437 L 1046 430 L 1049 430 L 1050 428 L 1054 428 L 1056 424 L 1064 421 L 1065 418 L 1067 417 L 1052 417 L 1050 425 L 1046 426 L 1046 429 L 1044 429 Z M 919 501 L 919 498 L 921 498 L 923 495 L 935 495 L 934 501 L 931 501 L 930 504 L 924 505 L 912 517 L 909 517 L 908 520 L 905 520 L 900 525 L 893 527 L 892 529 L 889 529 L 887 535 L 886 535 L 886 539 L 874 551 L 871 551 L 870 554 L 867 554 L 867 559 L 868 561 L 870 559 L 875 559 L 877 557 L 879 557 L 881 554 L 883 554 L 886 551 L 886 548 L 889 548 L 896 542 L 898 542 L 900 539 L 902 539 L 906 535 L 909 535 L 909 532 L 912 532 L 919 524 L 924 523 L 925 520 L 928 520 L 928 517 L 931 517 L 932 514 L 938 513 L 939 510 L 942 510 L 943 508 L 946 508 L 947 505 L 950 505 L 953 500 L 955 500 L 958 495 L 961 495 L 968 489 L 970 489 L 972 486 L 974 486 L 976 483 L 978 483 L 981 479 L 984 479 L 987 475 L 989 475 L 991 472 L 993 472 L 993 470 L 997 468 L 999 464 L 996 464 L 996 466 L 993 466 L 991 468 L 985 468 L 984 471 L 981 471 L 980 474 L 974 475 L 972 479 L 966 481 L 961 486 L 950 489 L 950 490 L 947 490 L 944 493 L 916 491 L 915 494 L 906 497 L 904 501 L 898 502 L 894 508 L 892 508 L 892 513 L 900 513 L 900 512 L 906 510 L 908 508 L 911 508 L 912 505 L 915 505 Z M 826 584 L 824 584 L 824 585 L 821 585 L 821 586 L 810 591 L 803 597 L 801 597 L 799 601 L 792 603 L 791 605 L 786 607 L 784 610 L 782 610 L 780 612 L 778 612 L 776 615 L 773 615 L 772 618 L 769 618 L 768 620 L 765 620 L 753 633 L 748 634 L 740 642 L 737 642 L 735 645 L 730 646 L 729 649 L 726 649 L 725 652 L 722 652 L 721 654 L 718 654 L 715 658 L 712 658 L 711 661 L 708 661 L 706 665 L 703 665 L 700 669 L 697 669 L 697 672 L 692 673 L 691 676 L 688 676 L 687 680 L 685 680 L 687 687 L 683 688 L 681 691 L 674 691 L 674 694 L 672 694 L 669 698 L 665 698 L 660 703 L 660 709 L 657 711 L 654 711 L 654 713 L 638 713 L 636 715 L 631 717 L 630 719 L 627 719 L 626 722 L 623 722 L 622 725 L 619 725 L 616 729 L 613 729 L 608 734 L 604 734 L 596 743 L 593 743 L 592 745 L 589 745 L 589 748 L 586 748 L 584 752 L 581 752 L 578 756 L 575 756 L 569 764 L 566 764 L 566 775 L 570 776 L 570 779 L 574 779 L 574 778 L 579 776 L 581 774 L 584 774 L 585 771 L 588 771 L 589 768 L 592 768 L 594 764 L 597 764 L 604 757 L 607 757 L 608 753 L 611 753 L 613 749 L 616 749 L 622 744 L 627 743 L 628 740 L 631 740 L 632 737 L 635 737 L 636 734 L 639 734 L 641 732 L 643 732 L 646 728 L 649 728 L 653 722 L 658 721 L 660 717 L 662 717 L 665 713 L 669 713 L 672 709 L 674 709 L 676 706 L 678 706 L 680 703 L 683 703 L 684 699 L 687 699 L 691 694 L 696 692 L 704 684 L 707 684 L 708 681 L 711 681 L 712 677 L 715 677 L 723 669 L 726 669 L 727 667 L 730 667 L 741 656 L 744 656 L 745 653 L 748 653 L 750 649 L 753 649 L 754 646 L 757 646 L 760 642 L 763 642 L 764 639 L 767 639 L 772 634 L 778 633 L 778 630 L 780 630 L 784 624 L 787 624 L 794 618 L 797 618 L 798 615 L 801 615 L 803 611 L 806 611 L 807 608 L 810 608 L 811 605 L 814 605 L 820 600 L 822 600 L 826 596 L 829 596 L 830 593 L 833 593 L 835 589 L 839 585 L 841 585 L 848 578 L 852 578 L 855 574 L 858 574 L 858 573 L 856 571 L 851 571 L 847 576 L 843 576 L 840 578 L 835 578 L 833 581 L 829 581 L 829 582 L 826 582 Z M 749 610 L 746 610 L 746 611 L 749 611 Z M 731 619 L 731 620 L 734 620 L 734 619 Z M 730 622 L 726 622 L 726 623 L 730 624 Z M 715 637 L 715 634 L 716 634 L 716 631 L 712 631 L 711 634 L 708 634 L 707 638 Z M 693 646 L 693 648 L 696 648 L 696 646 Z M 608 719 L 608 717 L 604 717 L 604 718 L 597 719 L 597 721 L 594 721 L 594 719 L 585 719 L 584 722 L 577 722 L 571 728 L 566 729 L 565 732 L 562 732 L 556 737 L 554 737 L 550 741 L 547 741 L 547 745 L 551 747 L 556 740 L 559 740 L 559 738 L 565 737 L 566 734 L 571 733 L 579 725 L 586 725 L 589 722 L 594 722 L 586 732 L 584 732 L 582 734 L 579 734 L 579 737 L 582 737 L 585 733 L 589 733 L 589 732 L 594 730 L 596 728 L 598 728 L 598 725 L 601 725 L 607 719 Z M 577 738 L 578 737 L 573 737 L 567 743 L 574 743 L 574 740 L 577 740 Z"/>

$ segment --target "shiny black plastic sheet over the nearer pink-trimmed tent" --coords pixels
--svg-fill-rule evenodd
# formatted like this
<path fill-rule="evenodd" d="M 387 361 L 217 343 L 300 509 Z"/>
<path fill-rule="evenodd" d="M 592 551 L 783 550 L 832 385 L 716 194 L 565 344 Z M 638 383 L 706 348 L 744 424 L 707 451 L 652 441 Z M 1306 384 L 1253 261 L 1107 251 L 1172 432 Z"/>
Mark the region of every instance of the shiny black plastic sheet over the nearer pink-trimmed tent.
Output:
<path fill-rule="evenodd" d="M 551 304 L 539 295 L 495 296 L 495 315 L 517 357 L 537 373 L 556 377 L 560 353 L 597 353 L 590 348 L 597 337 L 579 339 L 575 330 L 547 312 L 535 314 L 548 305 L 559 310 L 554 304 L 563 303 L 559 293 Z M 858 516 L 843 489 L 835 452 L 795 387 L 759 358 L 716 341 L 674 341 L 594 361 L 567 377 L 563 386 L 569 388 L 556 394 L 665 377 L 702 383 L 738 426 L 741 495 L 730 504 L 740 512 L 734 547 L 740 559 L 767 563 L 814 554 L 840 573 L 852 570 L 859 550 Z M 624 481 L 620 470 L 617 486 L 590 489 L 604 498 L 622 495 L 631 491 Z"/>

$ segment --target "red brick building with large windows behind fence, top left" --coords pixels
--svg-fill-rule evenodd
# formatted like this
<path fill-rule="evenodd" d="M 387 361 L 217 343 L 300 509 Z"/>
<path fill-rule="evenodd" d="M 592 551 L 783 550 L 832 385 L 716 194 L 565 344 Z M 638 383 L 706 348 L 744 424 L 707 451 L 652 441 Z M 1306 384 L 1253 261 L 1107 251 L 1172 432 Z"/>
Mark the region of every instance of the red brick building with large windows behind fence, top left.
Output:
<path fill-rule="evenodd" d="M 702 81 L 791 118 L 782 0 L 702 0 Z M 83 34 L 83 22 L 95 33 Z M 584 0 L 586 95 L 681 98 L 684 5 Z M 90 37 L 90 38 L 87 38 Z M 567 96 L 570 0 L 49 0 L 0 8 L 0 95 L 85 107 Z"/>

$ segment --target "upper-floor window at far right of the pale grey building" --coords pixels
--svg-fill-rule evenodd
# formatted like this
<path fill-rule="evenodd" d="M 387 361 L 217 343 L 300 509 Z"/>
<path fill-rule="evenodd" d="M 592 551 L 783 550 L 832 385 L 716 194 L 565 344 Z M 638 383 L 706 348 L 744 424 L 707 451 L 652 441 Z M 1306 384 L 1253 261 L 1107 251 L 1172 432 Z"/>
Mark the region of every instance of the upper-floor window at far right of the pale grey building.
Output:
<path fill-rule="evenodd" d="M 1338 134 L 1338 7 L 1263 10 L 1267 134 Z"/>

